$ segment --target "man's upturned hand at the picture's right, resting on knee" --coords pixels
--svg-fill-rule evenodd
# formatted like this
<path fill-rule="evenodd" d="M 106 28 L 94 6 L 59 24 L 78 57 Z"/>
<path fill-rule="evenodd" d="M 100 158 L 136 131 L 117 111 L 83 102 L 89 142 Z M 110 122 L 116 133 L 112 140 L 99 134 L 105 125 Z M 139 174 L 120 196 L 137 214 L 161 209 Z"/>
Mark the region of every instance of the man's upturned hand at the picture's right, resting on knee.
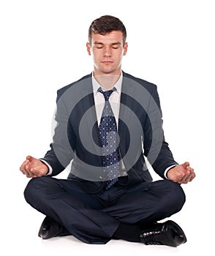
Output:
<path fill-rule="evenodd" d="M 189 166 L 189 162 L 184 162 L 182 165 L 176 165 L 167 171 L 167 178 L 179 184 L 187 184 L 195 178 L 195 172 Z"/>

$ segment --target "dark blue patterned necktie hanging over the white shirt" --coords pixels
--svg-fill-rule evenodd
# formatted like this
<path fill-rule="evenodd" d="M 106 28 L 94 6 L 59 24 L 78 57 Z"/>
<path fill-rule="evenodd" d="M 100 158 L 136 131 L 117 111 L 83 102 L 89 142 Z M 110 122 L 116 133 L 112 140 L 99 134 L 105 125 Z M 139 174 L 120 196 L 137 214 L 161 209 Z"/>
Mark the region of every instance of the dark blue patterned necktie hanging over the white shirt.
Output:
<path fill-rule="evenodd" d="M 116 119 L 110 106 L 109 97 L 116 88 L 110 91 L 98 89 L 105 97 L 105 107 L 99 125 L 99 137 L 102 144 L 102 166 L 105 173 L 106 189 L 109 189 L 118 181 L 119 151 Z"/>

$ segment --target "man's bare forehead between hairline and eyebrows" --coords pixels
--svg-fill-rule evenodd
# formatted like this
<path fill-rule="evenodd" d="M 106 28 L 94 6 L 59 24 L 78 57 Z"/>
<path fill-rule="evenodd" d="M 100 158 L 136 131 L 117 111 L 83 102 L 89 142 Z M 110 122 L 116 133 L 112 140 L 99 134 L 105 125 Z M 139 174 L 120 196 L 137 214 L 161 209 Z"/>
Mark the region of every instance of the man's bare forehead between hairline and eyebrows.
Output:
<path fill-rule="evenodd" d="M 123 42 L 123 34 L 121 31 L 111 31 L 108 34 L 94 34 L 92 33 L 91 42 L 100 42 L 103 44 L 113 44 L 116 42 Z"/>

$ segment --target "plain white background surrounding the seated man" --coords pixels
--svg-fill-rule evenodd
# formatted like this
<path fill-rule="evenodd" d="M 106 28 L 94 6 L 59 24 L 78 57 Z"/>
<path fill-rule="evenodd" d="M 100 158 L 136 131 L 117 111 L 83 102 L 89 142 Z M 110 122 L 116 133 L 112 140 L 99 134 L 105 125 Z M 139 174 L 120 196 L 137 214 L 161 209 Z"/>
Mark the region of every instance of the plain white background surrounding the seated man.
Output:
<path fill-rule="evenodd" d="M 124 71 L 156 83 L 165 138 L 176 160 L 188 160 L 197 173 L 183 185 L 186 205 L 170 218 L 188 239 L 176 249 L 126 241 L 93 246 L 72 236 L 42 241 L 44 217 L 23 198 L 28 179 L 19 166 L 27 154 L 42 157 L 48 150 L 56 90 L 91 72 L 88 26 L 106 14 L 127 27 Z M 214 251 L 214 17 L 208 0 L 1 1 L 1 255 Z"/>

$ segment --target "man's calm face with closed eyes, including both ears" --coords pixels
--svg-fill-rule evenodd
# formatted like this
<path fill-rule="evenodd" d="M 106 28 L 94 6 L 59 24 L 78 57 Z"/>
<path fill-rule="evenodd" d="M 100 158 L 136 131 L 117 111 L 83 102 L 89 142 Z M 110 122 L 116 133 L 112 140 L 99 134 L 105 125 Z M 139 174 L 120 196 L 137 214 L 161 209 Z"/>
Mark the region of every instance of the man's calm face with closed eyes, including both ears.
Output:
<path fill-rule="evenodd" d="M 92 34 L 91 45 L 86 44 L 88 55 L 94 60 L 94 75 L 120 75 L 121 60 L 127 53 L 121 31 L 109 34 Z"/>

